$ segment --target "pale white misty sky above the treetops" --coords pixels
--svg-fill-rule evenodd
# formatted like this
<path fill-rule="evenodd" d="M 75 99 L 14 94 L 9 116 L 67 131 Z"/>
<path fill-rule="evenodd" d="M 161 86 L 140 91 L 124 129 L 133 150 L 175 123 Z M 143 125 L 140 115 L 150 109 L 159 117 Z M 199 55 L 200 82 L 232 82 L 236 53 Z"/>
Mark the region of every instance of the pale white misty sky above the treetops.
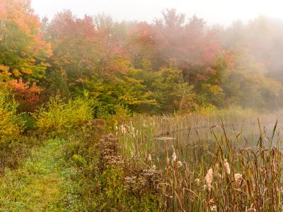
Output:
<path fill-rule="evenodd" d="M 110 14 L 115 20 L 146 20 L 160 17 L 164 8 L 176 8 L 187 16 L 196 14 L 209 23 L 229 24 L 236 19 L 248 20 L 259 15 L 283 18 L 281 0 L 32 0 L 35 13 L 52 18 L 63 9 L 76 16 Z"/>

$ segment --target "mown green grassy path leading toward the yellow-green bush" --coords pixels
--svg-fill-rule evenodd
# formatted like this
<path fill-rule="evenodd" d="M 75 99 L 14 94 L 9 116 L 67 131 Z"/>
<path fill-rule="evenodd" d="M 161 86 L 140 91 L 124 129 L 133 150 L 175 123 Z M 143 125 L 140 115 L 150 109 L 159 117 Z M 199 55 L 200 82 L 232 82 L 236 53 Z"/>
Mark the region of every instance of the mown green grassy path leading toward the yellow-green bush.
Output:
<path fill-rule="evenodd" d="M 76 169 L 64 160 L 64 142 L 33 148 L 18 170 L 0 177 L 0 211 L 80 211 Z"/>

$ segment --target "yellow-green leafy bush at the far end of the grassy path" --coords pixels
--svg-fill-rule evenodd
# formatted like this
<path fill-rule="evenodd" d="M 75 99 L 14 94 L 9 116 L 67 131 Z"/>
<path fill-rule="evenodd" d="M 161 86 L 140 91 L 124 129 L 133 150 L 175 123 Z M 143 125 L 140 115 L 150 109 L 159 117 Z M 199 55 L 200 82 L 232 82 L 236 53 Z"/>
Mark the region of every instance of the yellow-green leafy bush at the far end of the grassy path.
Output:
<path fill-rule="evenodd" d="M 35 129 L 40 134 L 62 134 L 82 126 L 93 119 L 88 100 L 76 98 L 63 102 L 59 95 L 50 98 L 46 107 L 41 107 L 35 117 Z"/>

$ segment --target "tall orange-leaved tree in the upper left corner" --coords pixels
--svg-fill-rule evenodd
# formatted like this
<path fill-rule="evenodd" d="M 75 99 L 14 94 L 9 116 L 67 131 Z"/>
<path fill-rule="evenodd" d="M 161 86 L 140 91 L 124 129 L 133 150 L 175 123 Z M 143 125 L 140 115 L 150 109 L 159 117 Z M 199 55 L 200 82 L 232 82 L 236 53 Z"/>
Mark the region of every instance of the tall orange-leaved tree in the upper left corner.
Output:
<path fill-rule="evenodd" d="M 0 65 L 8 67 L 9 76 L 38 81 L 45 75 L 50 45 L 42 40 L 30 1 L 0 0 L 0 52 Z"/>

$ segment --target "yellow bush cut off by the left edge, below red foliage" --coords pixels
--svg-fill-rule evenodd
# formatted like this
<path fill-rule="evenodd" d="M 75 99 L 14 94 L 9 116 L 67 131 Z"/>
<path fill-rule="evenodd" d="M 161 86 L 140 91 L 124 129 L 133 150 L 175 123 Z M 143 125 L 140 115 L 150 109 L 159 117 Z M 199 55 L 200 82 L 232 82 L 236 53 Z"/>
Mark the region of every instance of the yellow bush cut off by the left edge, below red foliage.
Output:
<path fill-rule="evenodd" d="M 4 87 L 0 87 L 0 145 L 16 141 L 23 131 L 23 121 L 16 114 L 18 104 Z"/>

